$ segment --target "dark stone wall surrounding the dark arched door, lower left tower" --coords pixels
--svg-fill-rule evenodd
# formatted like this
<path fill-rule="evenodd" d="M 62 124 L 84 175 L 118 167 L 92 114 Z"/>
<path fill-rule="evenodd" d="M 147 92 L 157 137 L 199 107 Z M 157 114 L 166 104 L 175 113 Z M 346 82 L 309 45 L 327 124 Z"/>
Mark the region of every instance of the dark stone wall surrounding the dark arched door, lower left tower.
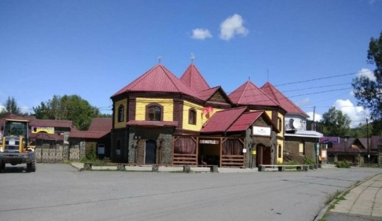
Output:
<path fill-rule="evenodd" d="M 129 162 L 145 163 L 146 141 L 156 141 L 156 164 L 169 165 L 172 163 L 172 134 L 173 128 L 141 128 L 130 127 Z M 134 137 L 140 136 L 140 139 Z"/>

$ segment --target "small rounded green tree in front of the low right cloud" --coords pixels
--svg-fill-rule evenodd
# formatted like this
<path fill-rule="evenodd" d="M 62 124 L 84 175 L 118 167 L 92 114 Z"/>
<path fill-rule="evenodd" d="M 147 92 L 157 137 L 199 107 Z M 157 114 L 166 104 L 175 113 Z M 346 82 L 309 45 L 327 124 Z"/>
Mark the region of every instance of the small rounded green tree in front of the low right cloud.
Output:
<path fill-rule="evenodd" d="M 350 132 L 350 118 L 335 107 L 322 115 L 323 133 L 328 137 L 343 137 Z"/>

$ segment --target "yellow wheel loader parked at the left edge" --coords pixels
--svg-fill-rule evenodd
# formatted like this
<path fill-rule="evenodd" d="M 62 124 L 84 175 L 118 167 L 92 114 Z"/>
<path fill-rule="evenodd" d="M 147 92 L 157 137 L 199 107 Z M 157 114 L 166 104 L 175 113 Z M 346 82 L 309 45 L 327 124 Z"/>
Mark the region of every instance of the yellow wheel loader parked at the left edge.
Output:
<path fill-rule="evenodd" d="M 29 172 L 36 171 L 34 147 L 29 147 L 29 122 L 6 119 L 1 127 L 3 138 L 0 146 L 0 171 L 6 163 L 17 165 L 26 163 Z"/>

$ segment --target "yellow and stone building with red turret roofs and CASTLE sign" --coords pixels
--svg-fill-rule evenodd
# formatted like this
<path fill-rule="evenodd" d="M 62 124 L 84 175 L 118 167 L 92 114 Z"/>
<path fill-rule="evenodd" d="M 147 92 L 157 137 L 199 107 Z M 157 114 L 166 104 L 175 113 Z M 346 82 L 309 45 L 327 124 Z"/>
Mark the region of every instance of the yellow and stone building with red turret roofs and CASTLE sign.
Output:
<path fill-rule="evenodd" d="M 180 78 L 157 64 L 111 99 L 112 161 L 223 167 L 282 161 L 285 110 L 250 81 L 228 96 L 210 87 L 194 63 Z"/>

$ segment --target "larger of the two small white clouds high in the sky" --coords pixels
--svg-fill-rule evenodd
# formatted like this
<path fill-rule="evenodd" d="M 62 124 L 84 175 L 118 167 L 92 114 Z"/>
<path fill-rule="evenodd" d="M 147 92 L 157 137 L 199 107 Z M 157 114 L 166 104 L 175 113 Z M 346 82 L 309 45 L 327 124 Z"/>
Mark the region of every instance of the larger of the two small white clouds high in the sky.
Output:
<path fill-rule="evenodd" d="M 248 29 L 243 26 L 243 19 L 240 15 L 235 14 L 228 17 L 222 24 L 220 24 L 220 38 L 229 41 L 235 35 L 246 36 Z"/>

